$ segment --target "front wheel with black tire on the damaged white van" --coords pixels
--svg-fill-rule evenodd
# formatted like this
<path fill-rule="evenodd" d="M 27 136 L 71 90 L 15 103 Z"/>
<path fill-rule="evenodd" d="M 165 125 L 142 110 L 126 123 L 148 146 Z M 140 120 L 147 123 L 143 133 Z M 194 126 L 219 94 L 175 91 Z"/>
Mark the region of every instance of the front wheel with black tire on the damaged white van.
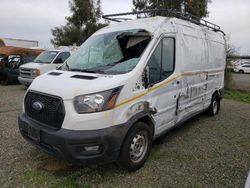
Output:
<path fill-rule="evenodd" d="M 152 133 L 152 129 L 146 123 L 135 123 L 123 142 L 116 164 L 128 172 L 141 168 L 150 154 Z"/>

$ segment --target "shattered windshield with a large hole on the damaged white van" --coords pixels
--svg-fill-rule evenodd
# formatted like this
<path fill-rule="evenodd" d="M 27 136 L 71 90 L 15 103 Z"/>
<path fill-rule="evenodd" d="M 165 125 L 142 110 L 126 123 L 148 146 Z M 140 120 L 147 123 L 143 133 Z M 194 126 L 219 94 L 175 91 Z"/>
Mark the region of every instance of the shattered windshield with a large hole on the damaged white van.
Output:
<path fill-rule="evenodd" d="M 145 30 L 128 30 L 90 37 L 61 67 L 63 70 L 104 74 L 131 71 L 148 46 Z"/>

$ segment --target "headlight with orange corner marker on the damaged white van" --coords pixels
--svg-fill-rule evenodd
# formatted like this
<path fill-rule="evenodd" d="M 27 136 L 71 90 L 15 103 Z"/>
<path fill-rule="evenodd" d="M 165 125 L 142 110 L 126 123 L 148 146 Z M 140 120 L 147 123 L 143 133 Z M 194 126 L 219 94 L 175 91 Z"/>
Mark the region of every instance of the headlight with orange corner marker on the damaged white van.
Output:
<path fill-rule="evenodd" d="M 93 113 L 113 109 L 121 88 L 75 97 L 74 106 L 77 113 Z"/>

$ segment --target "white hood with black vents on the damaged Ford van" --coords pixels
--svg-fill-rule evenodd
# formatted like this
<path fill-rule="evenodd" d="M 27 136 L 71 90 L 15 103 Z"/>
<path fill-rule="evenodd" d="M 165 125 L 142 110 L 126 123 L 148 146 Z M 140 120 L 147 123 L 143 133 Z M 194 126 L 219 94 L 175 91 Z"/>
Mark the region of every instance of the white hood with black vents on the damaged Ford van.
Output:
<path fill-rule="evenodd" d="M 128 76 L 100 75 L 69 71 L 51 71 L 37 77 L 29 90 L 72 100 L 78 95 L 91 94 L 124 85 Z"/>

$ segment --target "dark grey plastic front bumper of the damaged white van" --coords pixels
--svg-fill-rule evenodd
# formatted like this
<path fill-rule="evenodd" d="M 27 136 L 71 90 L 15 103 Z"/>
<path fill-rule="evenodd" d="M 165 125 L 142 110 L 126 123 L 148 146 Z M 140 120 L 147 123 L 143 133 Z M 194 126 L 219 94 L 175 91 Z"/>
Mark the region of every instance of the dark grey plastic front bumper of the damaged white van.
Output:
<path fill-rule="evenodd" d="M 18 124 L 22 136 L 30 143 L 72 164 L 104 164 L 116 161 L 128 130 L 128 126 L 123 124 L 91 131 L 55 131 L 41 127 L 24 113 L 18 117 Z M 36 134 L 31 136 L 30 130 Z M 99 146 L 99 150 L 86 152 L 86 146 Z"/>

